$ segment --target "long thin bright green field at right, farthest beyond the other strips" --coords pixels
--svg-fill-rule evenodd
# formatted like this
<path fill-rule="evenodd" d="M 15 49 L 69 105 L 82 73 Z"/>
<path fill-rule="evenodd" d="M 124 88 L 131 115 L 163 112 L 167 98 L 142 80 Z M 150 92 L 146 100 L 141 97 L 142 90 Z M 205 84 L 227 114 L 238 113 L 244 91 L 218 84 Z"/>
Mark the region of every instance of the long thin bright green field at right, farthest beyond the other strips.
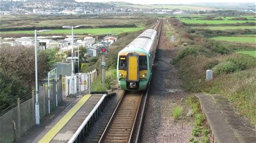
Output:
<path fill-rule="evenodd" d="M 180 20 L 186 24 L 235 24 L 235 23 L 246 23 L 252 22 L 255 23 L 254 20 Z"/>

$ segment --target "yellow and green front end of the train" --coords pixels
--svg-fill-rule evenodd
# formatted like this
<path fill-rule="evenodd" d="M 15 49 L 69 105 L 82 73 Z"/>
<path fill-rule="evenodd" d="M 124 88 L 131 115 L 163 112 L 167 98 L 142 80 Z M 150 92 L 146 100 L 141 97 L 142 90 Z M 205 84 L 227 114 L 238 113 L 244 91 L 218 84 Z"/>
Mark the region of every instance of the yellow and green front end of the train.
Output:
<path fill-rule="evenodd" d="M 150 77 L 149 55 L 144 51 L 118 54 L 117 79 L 123 90 L 145 90 Z"/>

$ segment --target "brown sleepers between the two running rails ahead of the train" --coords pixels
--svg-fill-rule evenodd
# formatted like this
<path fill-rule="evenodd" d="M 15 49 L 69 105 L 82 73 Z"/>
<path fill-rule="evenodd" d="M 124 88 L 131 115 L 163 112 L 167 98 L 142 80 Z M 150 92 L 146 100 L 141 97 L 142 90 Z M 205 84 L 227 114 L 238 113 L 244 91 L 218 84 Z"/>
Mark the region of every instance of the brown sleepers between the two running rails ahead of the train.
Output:
<path fill-rule="evenodd" d="M 99 142 L 130 142 L 136 124 L 143 92 L 125 93 Z"/>

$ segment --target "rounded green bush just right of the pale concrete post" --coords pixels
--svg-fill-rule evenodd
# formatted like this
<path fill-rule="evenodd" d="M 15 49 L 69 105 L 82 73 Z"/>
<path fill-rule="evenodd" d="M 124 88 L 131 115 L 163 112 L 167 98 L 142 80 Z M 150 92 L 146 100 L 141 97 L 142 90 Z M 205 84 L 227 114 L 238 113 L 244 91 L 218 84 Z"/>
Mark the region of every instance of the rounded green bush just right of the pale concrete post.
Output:
<path fill-rule="evenodd" d="M 219 65 L 215 66 L 213 68 L 213 72 L 215 75 L 221 75 L 221 74 L 228 74 L 232 73 L 234 71 L 237 71 L 239 68 L 235 63 L 231 61 L 226 61 L 219 63 Z"/>

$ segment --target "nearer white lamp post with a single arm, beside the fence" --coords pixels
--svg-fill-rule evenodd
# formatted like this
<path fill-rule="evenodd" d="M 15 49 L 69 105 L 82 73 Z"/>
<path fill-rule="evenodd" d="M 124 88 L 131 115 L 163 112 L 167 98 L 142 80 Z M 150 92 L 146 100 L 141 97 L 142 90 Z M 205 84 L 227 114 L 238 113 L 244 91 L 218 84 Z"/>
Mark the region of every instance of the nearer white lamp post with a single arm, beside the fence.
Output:
<path fill-rule="evenodd" d="M 38 32 L 46 32 L 51 30 L 39 30 Z M 37 30 L 35 30 L 35 74 L 36 74 L 36 103 L 35 103 L 35 115 L 36 125 L 40 124 L 39 102 L 38 102 L 38 77 L 37 77 Z"/>

